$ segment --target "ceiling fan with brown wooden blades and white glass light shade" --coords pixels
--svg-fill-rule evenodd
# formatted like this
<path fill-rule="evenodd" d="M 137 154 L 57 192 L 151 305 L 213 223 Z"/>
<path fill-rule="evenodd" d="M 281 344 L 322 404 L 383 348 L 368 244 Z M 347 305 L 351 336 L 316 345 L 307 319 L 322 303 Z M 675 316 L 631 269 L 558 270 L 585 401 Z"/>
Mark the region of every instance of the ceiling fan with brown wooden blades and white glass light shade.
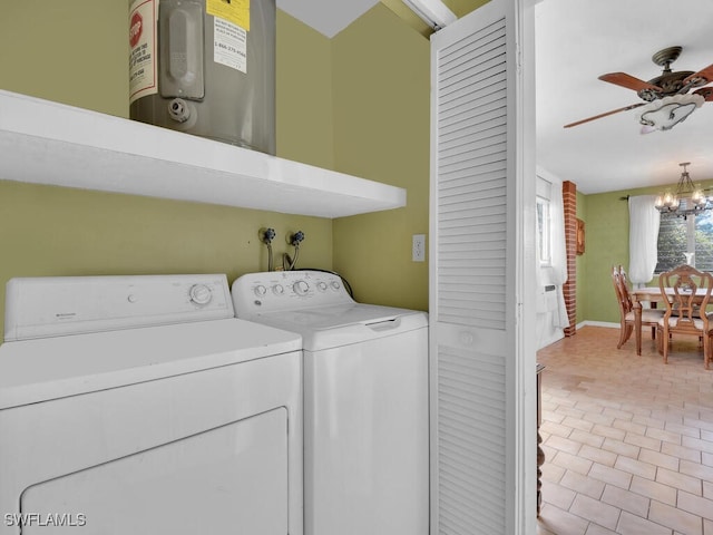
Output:
<path fill-rule="evenodd" d="M 646 106 L 649 103 L 657 103 L 657 105 L 665 106 L 668 106 L 671 103 L 672 105 L 675 104 L 675 107 L 671 110 L 666 110 L 667 114 L 670 114 L 670 117 L 667 119 L 670 126 L 658 127 L 660 129 L 668 129 L 673 125 L 685 119 L 688 114 L 693 111 L 693 109 L 699 107 L 704 101 L 713 101 L 713 87 L 703 87 L 713 81 L 713 65 L 709 65 L 705 69 L 697 72 L 693 72 L 691 70 L 671 70 L 671 64 L 673 64 L 678 58 L 682 50 L 683 49 L 681 47 L 668 47 L 654 54 L 654 56 L 652 57 L 652 61 L 663 67 L 663 72 L 661 74 L 661 76 L 657 76 L 656 78 L 653 78 L 648 81 L 639 80 L 638 78 L 627 75 L 626 72 L 609 72 L 608 75 L 599 76 L 599 80 L 608 81 L 609 84 L 615 84 L 617 86 L 635 90 L 638 97 L 644 101 L 631 104 L 628 106 L 624 106 L 623 108 L 613 109 L 604 114 L 595 115 L 594 117 L 588 117 L 586 119 L 570 123 L 568 125 L 565 125 L 565 128 L 570 128 L 573 126 L 582 125 L 583 123 L 588 123 L 602 117 L 618 114 L 619 111 L 628 111 L 629 109 Z M 692 94 L 688 94 L 691 89 L 695 88 L 701 89 L 696 89 Z M 691 95 L 691 97 L 681 98 L 680 96 L 682 95 Z M 684 101 L 685 105 L 682 104 Z M 652 106 L 652 109 L 649 110 L 651 114 L 655 114 L 658 109 L 663 108 L 663 106 L 657 105 Z M 675 116 L 676 109 L 682 109 L 680 108 L 681 106 L 686 106 L 686 108 L 688 109 L 685 109 L 682 114 Z M 648 114 L 648 111 L 646 114 Z M 654 126 L 653 119 L 646 117 L 645 115 L 642 115 L 639 121 L 644 126 Z"/>

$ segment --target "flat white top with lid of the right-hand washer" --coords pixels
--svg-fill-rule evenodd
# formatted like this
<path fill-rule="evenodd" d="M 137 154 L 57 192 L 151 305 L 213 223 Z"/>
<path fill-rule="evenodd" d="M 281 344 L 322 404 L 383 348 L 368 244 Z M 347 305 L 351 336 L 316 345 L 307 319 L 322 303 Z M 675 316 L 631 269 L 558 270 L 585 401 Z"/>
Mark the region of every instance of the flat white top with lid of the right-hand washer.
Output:
<path fill-rule="evenodd" d="M 305 351 L 339 348 L 428 327 L 426 312 L 354 302 L 276 311 L 246 319 L 300 333 Z"/>

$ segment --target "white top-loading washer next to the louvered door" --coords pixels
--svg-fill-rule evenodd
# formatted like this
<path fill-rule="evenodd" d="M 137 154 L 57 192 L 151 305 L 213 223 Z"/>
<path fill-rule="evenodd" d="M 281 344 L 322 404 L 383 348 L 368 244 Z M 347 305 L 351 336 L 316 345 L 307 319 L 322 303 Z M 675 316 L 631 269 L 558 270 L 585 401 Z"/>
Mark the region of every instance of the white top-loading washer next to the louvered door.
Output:
<path fill-rule="evenodd" d="M 428 317 L 319 271 L 233 283 L 238 318 L 302 335 L 306 535 L 427 535 Z"/>

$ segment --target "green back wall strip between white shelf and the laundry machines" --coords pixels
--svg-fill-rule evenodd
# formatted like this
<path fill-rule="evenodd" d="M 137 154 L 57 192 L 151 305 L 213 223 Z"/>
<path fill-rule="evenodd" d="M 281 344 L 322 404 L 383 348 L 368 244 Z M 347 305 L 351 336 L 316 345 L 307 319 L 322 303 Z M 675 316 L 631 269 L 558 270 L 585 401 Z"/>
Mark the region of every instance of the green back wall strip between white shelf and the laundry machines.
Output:
<path fill-rule="evenodd" d="M 331 243 L 318 217 L 0 182 L 0 276 L 227 273 L 267 269 L 261 226 L 302 230 Z M 276 240 L 276 251 L 286 251 Z M 305 240 L 305 244 L 306 244 Z M 303 264 L 304 263 L 304 264 Z M 301 265 L 330 266 L 329 246 L 305 246 Z"/>

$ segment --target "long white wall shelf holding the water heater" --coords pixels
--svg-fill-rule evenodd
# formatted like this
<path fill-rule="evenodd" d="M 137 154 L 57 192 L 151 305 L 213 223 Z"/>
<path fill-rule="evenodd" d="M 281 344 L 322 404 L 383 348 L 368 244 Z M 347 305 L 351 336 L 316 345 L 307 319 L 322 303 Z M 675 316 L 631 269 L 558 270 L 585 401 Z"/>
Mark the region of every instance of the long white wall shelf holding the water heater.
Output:
<path fill-rule="evenodd" d="M 0 179 L 320 217 L 406 206 L 399 187 L 2 90 Z"/>

